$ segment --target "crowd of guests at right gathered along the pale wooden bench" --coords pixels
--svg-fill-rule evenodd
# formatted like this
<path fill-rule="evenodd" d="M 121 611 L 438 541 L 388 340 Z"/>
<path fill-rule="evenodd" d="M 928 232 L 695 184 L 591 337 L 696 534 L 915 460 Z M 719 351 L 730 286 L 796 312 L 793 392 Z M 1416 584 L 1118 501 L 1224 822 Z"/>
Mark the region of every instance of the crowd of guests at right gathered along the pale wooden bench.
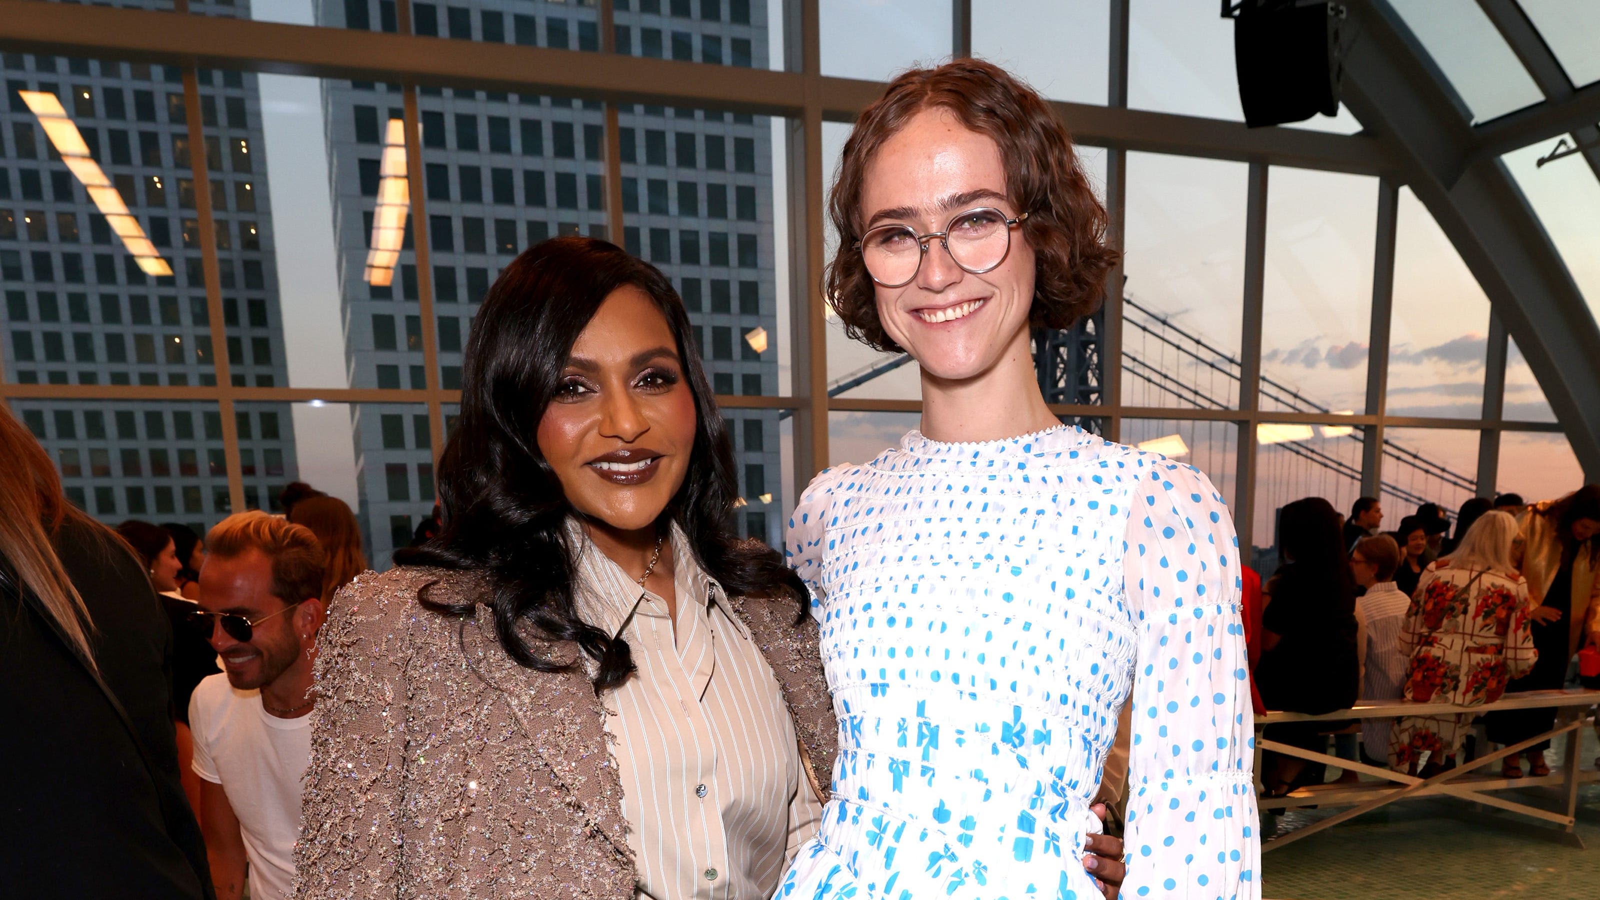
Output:
<path fill-rule="evenodd" d="M 1421 504 L 1392 531 L 1384 518 L 1376 497 L 1355 500 L 1349 518 L 1322 497 L 1280 510 L 1280 564 L 1259 598 L 1248 579 L 1245 591 L 1246 630 L 1259 623 L 1250 635 L 1258 711 L 1325 715 L 1397 700 L 1478 707 L 1507 692 L 1600 689 L 1600 486 L 1534 504 L 1472 497 L 1454 523 L 1437 504 Z M 1365 719 L 1358 751 L 1352 742 L 1336 753 L 1430 777 L 1459 764 L 1478 718 Z M 1482 716 L 1485 739 L 1502 747 L 1549 732 L 1554 721 L 1549 707 Z M 1285 723 L 1266 737 L 1325 751 L 1349 726 Z M 1506 758 L 1501 775 L 1547 775 L 1546 748 Z M 1274 796 L 1326 774 L 1275 753 L 1262 767 Z"/>

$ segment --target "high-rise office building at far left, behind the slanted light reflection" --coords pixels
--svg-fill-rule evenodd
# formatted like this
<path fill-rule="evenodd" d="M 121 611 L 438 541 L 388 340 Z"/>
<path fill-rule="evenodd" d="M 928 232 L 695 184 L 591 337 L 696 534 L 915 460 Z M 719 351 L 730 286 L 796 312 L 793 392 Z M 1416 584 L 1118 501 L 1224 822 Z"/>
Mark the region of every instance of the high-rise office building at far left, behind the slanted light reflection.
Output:
<path fill-rule="evenodd" d="M 227 14 L 248 16 L 248 6 Z M 154 6 L 154 3 L 152 3 Z M 0 58 L 0 328 L 19 384 L 214 385 L 200 224 L 174 67 L 8 53 Z M 235 385 L 288 384 L 256 77 L 198 74 L 226 352 Z M 171 275 L 149 275 L 30 109 L 59 110 Z M 62 155 L 67 158 L 64 160 Z M 162 269 L 155 265 L 154 269 Z M 182 521 L 230 512 L 222 420 L 210 401 L 16 400 L 67 496 L 96 518 Z M 272 508 L 294 478 L 286 403 L 238 404 L 245 504 Z"/>

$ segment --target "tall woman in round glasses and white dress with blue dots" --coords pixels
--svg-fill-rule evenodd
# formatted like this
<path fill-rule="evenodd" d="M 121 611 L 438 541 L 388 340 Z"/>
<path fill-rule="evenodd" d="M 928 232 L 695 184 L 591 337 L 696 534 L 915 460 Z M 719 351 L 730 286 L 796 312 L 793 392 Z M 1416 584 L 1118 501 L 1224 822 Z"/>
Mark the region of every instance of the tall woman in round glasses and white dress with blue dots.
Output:
<path fill-rule="evenodd" d="M 1259 897 L 1242 561 L 1198 470 L 1062 425 L 1035 328 L 1115 251 L 1072 141 L 987 62 L 906 72 L 856 121 L 824 293 L 922 368 L 922 428 L 819 475 L 789 526 L 840 716 L 782 897 L 1078 897 L 1133 699 L 1130 897 Z"/>

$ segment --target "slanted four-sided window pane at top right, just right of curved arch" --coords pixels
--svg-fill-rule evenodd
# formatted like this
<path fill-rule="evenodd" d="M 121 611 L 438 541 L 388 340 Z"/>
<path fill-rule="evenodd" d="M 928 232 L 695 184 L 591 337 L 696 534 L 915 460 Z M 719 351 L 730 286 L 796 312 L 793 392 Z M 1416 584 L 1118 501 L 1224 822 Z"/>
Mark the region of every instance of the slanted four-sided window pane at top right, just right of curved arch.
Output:
<path fill-rule="evenodd" d="M 1390 2 L 1456 88 L 1472 121 L 1488 121 L 1544 99 L 1477 0 Z"/>

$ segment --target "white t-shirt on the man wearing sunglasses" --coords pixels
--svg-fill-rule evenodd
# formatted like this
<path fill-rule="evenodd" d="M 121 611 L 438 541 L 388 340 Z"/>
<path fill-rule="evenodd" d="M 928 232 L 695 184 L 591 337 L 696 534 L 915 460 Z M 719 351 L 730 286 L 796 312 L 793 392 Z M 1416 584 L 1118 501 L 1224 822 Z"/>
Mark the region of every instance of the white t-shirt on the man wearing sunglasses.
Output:
<path fill-rule="evenodd" d="M 283 719 L 261 707 L 261 691 L 235 691 L 213 675 L 189 699 L 194 771 L 222 785 L 250 858 L 250 895 L 288 897 L 294 882 L 301 779 L 310 763 L 310 715 Z"/>

